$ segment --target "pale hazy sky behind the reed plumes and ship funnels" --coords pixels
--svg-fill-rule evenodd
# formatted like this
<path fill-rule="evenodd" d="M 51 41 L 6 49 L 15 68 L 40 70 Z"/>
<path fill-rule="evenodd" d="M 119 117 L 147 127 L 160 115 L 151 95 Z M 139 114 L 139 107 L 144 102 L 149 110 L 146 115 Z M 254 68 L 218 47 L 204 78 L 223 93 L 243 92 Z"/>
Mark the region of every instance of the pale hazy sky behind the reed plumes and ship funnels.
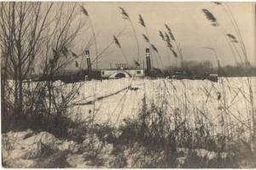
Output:
<path fill-rule="evenodd" d="M 226 3 L 241 31 L 247 57 L 252 65 L 256 65 L 256 31 L 255 31 L 255 5 L 254 3 Z M 98 52 L 106 48 L 113 41 L 113 35 L 122 32 L 118 37 L 122 48 L 116 44 L 112 44 L 110 48 L 98 59 L 99 68 L 109 68 L 110 63 L 125 63 L 125 56 L 129 65 L 134 65 L 134 59 L 137 59 L 137 41 L 132 30 L 132 25 L 136 31 L 139 42 L 139 62 L 145 60 L 145 48 L 148 43 L 144 41 L 142 34 L 148 35 L 150 42 L 159 51 L 159 56 L 152 52 L 154 66 L 166 68 L 170 65 L 179 65 L 180 57 L 177 59 L 172 52 L 166 48 L 166 43 L 159 36 L 160 31 L 166 31 L 165 24 L 170 26 L 174 37 L 176 37 L 177 45 L 180 46 L 184 60 L 212 61 L 213 65 L 217 65 L 213 51 L 207 48 L 214 48 L 221 65 L 236 65 L 236 61 L 241 62 L 239 56 L 232 54 L 228 42 L 226 42 L 225 34 L 230 33 L 237 37 L 236 31 L 230 22 L 228 15 L 224 12 L 221 5 L 215 3 L 79 3 L 83 5 L 90 15 L 91 25 L 96 33 L 96 45 Z M 130 15 L 131 23 L 122 18 L 119 7 L 125 8 Z M 207 8 L 218 20 L 219 26 L 212 26 L 207 20 L 202 8 Z M 138 14 L 143 16 L 146 25 L 141 26 L 138 21 Z M 79 20 L 86 20 L 84 14 L 80 13 Z M 89 22 L 87 22 L 89 24 Z M 78 37 L 75 50 L 79 51 L 88 42 L 92 35 L 89 26 L 83 34 Z M 174 45 L 174 42 L 173 44 Z M 240 43 L 235 43 L 236 49 L 241 57 Z M 176 47 L 174 45 L 174 47 Z M 207 48 L 204 48 L 207 47 Z M 123 51 L 122 51 L 123 50 Z M 176 49 L 177 51 L 177 49 Z M 91 59 L 96 56 L 95 44 L 92 42 L 90 46 Z M 125 54 L 125 56 L 124 56 Z M 156 61 L 158 58 L 158 64 Z M 162 59 L 162 65 L 160 59 Z M 84 64 L 85 66 L 85 64 Z M 83 67 L 84 67 L 83 66 Z M 95 68 L 96 63 L 93 64 Z"/>

